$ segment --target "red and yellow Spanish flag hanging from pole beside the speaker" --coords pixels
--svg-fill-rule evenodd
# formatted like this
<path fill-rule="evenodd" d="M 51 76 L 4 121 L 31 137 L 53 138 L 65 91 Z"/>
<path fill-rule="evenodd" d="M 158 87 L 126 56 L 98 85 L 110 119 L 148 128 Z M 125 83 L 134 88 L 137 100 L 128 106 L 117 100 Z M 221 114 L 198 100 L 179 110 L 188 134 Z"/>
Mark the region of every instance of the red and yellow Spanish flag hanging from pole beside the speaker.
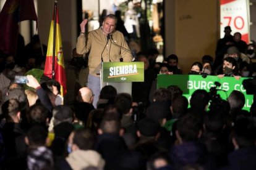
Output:
<path fill-rule="evenodd" d="M 56 9 L 56 36 L 55 36 L 55 50 L 53 51 L 53 33 L 54 33 L 54 15 L 51 21 L 51 28 L 49 31 L 48 49 L 45 61 L 44 74 L 49 78 L 53 78 L 53 54 L 54 54 L 54 79 L 61 84 L 62 97 L 66 94 L 66 73 L 64 66 L 64 57 L 61 42 L 61 29 L 59 28 L 59 13 Z"/>

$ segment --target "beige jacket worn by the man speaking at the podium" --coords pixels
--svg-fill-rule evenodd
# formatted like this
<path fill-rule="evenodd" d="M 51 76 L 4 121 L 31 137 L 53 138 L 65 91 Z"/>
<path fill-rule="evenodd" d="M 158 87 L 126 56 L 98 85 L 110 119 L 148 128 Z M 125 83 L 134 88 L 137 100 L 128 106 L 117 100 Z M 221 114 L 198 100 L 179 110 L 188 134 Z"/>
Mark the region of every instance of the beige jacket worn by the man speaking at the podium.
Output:
<path fill-rule="evenodd" d="M 96 76 L 100 73 L 101 56 L 103 58 L 103 62 L 119 62 L 121 58 L 124 62 L 132 61 L 132 54 L 124 50 L 130 49 L 120 31 L 115 30 L 113 32 L 111 41 L 109 40 L 106 45 L 107 38 L 101 31 L 101 28 L 90 31 L 87 35 L 80 34 L 77 38 L 77 53 L 85 54 L 90 52 L 88 65 L 89 73 L 91 75 Z M 114 43 L 124 47 L 124 49 L 114 45 Z"/>

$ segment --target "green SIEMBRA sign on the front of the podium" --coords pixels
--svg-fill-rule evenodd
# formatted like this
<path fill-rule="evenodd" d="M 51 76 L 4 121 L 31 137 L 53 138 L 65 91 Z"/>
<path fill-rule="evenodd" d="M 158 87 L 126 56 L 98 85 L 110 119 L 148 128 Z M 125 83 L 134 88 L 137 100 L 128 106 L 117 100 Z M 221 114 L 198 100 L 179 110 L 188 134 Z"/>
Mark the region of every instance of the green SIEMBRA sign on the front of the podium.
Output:
<path fill-rule="evenodd" d="M 143 62 L 103 62 L 103 82 L 144 81 Z"/>

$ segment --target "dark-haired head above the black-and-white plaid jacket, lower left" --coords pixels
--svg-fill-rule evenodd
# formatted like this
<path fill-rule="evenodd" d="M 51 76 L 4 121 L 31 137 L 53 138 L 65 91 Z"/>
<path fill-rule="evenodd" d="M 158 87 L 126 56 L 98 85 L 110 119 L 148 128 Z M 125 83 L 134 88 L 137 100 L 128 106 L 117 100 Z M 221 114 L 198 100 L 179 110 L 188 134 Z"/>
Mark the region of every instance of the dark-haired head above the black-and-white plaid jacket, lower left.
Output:
<path fill-rule="evenodd" d="M 48 143 L 48 131 L 46 127 L 38 124 L 30 127 L 25 137 L 25 142 L 32 148 L 45 146 Z"/>

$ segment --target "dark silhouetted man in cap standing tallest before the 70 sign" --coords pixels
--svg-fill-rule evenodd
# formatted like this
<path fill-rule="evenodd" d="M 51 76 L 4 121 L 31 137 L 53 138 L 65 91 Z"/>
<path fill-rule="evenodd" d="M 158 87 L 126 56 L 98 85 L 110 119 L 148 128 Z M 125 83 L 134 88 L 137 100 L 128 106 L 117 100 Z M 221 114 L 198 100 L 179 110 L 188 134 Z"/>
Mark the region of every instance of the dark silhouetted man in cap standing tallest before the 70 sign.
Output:
<path fill-rule="evenodd" d="M 234 44 L 234 38 L 231 35 L 231 28 L 230 26 L 226 26 L 224 28 L 224 38 L 221 38 L 217 42 L 217 47 L 216 47 L 216 58 L 214 62 L 214 67 L 217 68 L 219 65 L 221 65 L 223 56 L 226 54 L 228 47 L 233 46 Z"/>

